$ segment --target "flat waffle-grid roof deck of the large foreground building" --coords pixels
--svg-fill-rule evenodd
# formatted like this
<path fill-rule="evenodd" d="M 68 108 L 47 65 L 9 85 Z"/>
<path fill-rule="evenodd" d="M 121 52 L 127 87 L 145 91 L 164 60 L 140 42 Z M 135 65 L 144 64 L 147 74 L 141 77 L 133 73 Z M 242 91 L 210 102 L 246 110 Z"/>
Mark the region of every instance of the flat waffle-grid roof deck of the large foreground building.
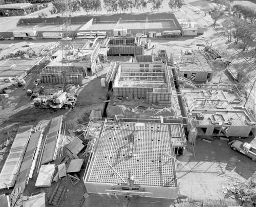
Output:
<path fill-rule="evenodd" d="M 91 121 L 102 126 L 85 182 L 175 187 L 172 136 L 184 136 L 181 124 Z M 114 170 L 113 170 L 114 169 Z M 130 173 L 129 173 L 130 172 Z"/>

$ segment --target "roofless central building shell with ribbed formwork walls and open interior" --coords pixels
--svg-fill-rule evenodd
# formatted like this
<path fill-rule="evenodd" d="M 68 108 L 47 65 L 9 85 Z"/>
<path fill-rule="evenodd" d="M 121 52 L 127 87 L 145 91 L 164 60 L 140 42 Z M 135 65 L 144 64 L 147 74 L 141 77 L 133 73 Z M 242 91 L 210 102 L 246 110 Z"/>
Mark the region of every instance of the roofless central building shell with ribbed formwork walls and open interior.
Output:
<path fill-rule="evenodd" d="M 171 106 L 172 81 L 166 63 L 121 63 L 113 81 L 113 95 L 146 98 L 148 104 Z"/>

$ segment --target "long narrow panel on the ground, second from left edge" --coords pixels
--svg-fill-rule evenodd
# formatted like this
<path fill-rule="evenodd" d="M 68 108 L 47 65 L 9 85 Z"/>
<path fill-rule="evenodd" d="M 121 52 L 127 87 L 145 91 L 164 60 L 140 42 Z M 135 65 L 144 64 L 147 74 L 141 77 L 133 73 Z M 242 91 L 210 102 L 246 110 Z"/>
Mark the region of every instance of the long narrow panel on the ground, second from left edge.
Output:
<path fill-rule="evenodd" d="M 20 186 L 24 186 L 27 184 L 34 153 L 39 142 L 39 139 L 41 138 L 41 131 L 37 131 L 36 133 L 31 135 L 14 188 L 19 188 Z"/>

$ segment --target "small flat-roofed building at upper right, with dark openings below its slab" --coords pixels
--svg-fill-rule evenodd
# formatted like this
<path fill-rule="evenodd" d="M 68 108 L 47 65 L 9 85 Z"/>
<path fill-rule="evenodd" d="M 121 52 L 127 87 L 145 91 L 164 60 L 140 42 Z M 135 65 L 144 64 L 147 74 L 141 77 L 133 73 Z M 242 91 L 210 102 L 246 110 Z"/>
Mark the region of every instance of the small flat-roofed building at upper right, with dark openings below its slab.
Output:
<path fill-rule="evenodd" d="M 176 79 L 180 76 L 194 82 L 208 82 L 214 73 L 214 66 L 203 54 L 171 54 L 170 63 L 174 65 Z"/>

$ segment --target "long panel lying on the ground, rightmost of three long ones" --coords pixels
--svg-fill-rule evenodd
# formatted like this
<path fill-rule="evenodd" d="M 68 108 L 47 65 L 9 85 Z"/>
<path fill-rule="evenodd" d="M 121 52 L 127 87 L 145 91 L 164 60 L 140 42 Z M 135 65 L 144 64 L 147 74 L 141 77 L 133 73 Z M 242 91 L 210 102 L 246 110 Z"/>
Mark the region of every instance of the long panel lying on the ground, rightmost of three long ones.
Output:
<path fill-rule="evenodd" d="M 61 129 L 62 116 L 53 118 L 47 136 L 47 141 L 42 154 L 41 164 L 49 163 L 56 158 L 57 144 Z"/>

